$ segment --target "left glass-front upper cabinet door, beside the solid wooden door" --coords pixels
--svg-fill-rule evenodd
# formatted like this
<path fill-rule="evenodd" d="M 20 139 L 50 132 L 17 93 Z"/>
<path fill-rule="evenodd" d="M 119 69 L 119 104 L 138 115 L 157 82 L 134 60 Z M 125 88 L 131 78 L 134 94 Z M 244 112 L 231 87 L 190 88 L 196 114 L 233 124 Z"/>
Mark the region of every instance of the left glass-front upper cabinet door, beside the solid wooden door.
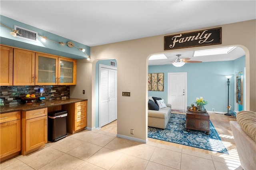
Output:
<path fill-rule="evenodd" d="M 36 53 L 36 85 L 58 84 L 58 57 Z"/>

